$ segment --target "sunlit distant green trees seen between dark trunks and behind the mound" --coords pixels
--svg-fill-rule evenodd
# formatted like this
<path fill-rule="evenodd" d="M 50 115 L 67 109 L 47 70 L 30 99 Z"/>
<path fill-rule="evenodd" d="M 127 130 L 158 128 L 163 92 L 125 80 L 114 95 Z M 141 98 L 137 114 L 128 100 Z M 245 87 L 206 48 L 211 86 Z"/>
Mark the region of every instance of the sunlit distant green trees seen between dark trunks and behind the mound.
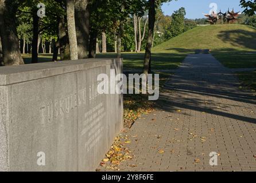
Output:
<path fill-rule="evenodd" d="M 184 13 L 182 13 L 184 12 Z M 157 20 L 154 30 L 153 46 L 159 45 L 170 38 L 175 37 L 197 25 L 208 24 L 205 18 L 202 19 L 184 19 L 185 11 L 183 8 L 175 11 L 172 16 L 164 15 L 161 9 L 157 10 Z M 26 18 L 26 17 L 24 17 Z M 22 53 L 31 53 L 32 43 L 32 23 L 26 24 L 24 21 L 19 21 L 17 27 L 18 37 L 20 39 L 20 47 Z M 239 15 L 239 24 L 246 24 L 256 27 L 256 16 L 249 17 L 248 15 Z M 122 51 L 139 52 L 145 49 L 146 37 L 148 36 L 148 17 L 143 15 L 139 17 L 134 15 L 126 19 L 124 32 L 122 37 Z M 38 37 L 38 53 L 52 54 L 53 42 L 57 37 L 45 34 L 44 31 Z M 102 32 L 97 37 L 96 53 L 117 53 L 117 33 L 116 30 L 108 30 Z M 59 51 L 58 51 L 59 52 Z"/>

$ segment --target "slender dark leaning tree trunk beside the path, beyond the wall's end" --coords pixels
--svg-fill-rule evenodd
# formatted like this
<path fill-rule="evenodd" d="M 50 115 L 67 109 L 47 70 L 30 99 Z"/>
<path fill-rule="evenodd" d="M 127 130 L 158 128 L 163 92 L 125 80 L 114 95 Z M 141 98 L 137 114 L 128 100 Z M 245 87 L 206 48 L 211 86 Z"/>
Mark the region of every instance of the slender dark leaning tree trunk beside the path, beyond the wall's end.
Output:
<path fill-rule="evenodd" d="M 154 34 L 154 23 L 156 22 L 156 0 L 149 0 L 149 31 L 146 52 L 144 58 L 143 73 L 151 73 L 151 50 Z"/>

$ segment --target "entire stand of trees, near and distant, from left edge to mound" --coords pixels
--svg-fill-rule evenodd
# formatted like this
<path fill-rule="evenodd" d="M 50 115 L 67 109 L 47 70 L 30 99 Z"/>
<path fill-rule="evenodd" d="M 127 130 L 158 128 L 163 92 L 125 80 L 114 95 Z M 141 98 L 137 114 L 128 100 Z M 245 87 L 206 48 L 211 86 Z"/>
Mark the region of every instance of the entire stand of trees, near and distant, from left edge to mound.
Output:
<path fill-rule="evenodd" d="M 113 47 L 118 58 L 122 50 L 145 49 L 143 72 L 149 73 L 153 44 L 196 26 L 185 19 L 184 8 L 165 16 L 160 7 L 168 1 L 0 0 L 1 65 L 23 64 L 20 46 L 25 52 L 31 45 L 32 63 L 38 62 L 39 50 L 56 61 L 58 54 L 61 60 L 95 58 L 97 51 Z M 45 17 L 39 3 L 45 5 Z M 255 13 L 255 1 L 241 5 L 247 14 Z"/>

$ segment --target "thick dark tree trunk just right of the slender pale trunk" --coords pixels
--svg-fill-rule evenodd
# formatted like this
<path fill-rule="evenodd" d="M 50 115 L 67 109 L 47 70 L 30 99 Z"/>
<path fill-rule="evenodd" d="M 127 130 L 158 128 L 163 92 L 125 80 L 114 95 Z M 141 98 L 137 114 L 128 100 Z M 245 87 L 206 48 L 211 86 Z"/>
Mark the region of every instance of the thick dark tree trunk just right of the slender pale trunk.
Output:
<path fill-rule="evenodd" d="M 75 1 L 75 22 L 78 58 L 88 58 L 88 43 L 90 36 L 90 11 L 88 10 L 88 0 Z"/>

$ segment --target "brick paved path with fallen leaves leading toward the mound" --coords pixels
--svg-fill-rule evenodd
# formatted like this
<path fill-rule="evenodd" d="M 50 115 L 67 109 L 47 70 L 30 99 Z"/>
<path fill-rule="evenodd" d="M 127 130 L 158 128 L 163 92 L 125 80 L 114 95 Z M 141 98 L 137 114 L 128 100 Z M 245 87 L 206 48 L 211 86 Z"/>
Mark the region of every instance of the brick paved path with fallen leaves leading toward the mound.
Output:
<path fill-rule="evenodd" d="M 189 55 L 156 112 L 127 132 L 122 171 L 256 171 L 256 100 L 211 54 Z M 210 166 L 210 152 L 218 166 Z M 135 165 L 132 167 L 131 165 Z"/>

